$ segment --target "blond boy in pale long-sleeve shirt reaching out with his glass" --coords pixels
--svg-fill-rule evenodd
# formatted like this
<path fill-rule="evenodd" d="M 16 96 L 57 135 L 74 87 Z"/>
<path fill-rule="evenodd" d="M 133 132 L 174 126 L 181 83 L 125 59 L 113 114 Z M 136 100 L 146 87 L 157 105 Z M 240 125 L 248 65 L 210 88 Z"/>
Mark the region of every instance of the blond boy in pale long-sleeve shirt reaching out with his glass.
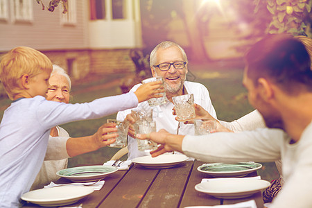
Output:
<path fill-rule="evenodd" d="M 136 107 L 163 91 L 160 82 L 155 82 L 144 85 L 138 93 L 90 103 L 46 101 L 51 71 L 49 58 L 28 47 L 12 49 L 0 62 L 0 80 L 13 101 L 0 124 L 0 207 L 20 206 L 21 195 L 29 191 L 40 171 L 53 126 Z"/>

